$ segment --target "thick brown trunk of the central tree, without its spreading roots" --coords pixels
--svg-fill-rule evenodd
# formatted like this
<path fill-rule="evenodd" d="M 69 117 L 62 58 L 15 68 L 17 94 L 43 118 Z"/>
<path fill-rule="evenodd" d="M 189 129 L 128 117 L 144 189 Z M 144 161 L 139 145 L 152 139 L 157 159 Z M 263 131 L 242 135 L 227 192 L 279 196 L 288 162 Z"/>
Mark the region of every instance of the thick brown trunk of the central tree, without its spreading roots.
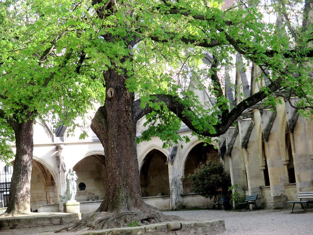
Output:
<path fill-rule="evenodd" d="M 115 70 L 104 73 L 107 94 L 91 123 L 105 152 L 107 186 L 98 211 L 126 212 L 146 208 L 141 199 L 136 149 L 136 123 L 132 118 L 134 94 L 127 91 L 125 77 Z M 113 89 L 113 90 L 112 90 Z"/>

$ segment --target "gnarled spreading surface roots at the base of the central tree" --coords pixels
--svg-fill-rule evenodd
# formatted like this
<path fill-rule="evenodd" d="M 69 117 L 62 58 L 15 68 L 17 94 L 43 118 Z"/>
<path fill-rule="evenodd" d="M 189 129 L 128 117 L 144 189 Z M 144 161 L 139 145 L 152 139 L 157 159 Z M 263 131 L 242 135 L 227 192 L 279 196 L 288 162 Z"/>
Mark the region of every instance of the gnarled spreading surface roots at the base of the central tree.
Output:
<path fill-rule="evenodd" d="M 94 212 L 84 219 L 74 223 L 74 225 L 63 227 L 55 232 L 76 232 L 78 230 L 133 227 L 168 221 L 184 221 L 184 219 L 179 216 L 164 215 L 160 211 L 152 213 L 144 213 L 141 211 L 127 211 L 120 213 Z"/>

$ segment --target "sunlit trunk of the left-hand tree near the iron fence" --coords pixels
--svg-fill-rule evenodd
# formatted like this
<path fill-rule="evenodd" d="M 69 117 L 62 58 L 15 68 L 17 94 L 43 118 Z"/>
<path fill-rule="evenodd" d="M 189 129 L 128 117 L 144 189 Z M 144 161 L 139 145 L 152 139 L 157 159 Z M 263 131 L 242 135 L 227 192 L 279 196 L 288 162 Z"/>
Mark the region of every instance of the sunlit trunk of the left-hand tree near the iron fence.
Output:
<path fill-rule="evenodd" d="M 14 126 L 16 154 L 6 214 L 30 213 L 34 120 Z"/>

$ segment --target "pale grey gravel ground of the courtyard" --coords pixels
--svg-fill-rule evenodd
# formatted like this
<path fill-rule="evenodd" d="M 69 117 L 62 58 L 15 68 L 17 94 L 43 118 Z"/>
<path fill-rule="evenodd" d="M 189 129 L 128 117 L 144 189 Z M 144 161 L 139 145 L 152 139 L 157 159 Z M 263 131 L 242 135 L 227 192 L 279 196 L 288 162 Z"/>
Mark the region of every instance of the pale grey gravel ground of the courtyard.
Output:
<path fill-rule="evenodd" d="M 204 221 L 209 219 L 225 220 L 226 231 L 221 235 L 308 235 L 313 234 L 313 210 L 301 212 L 296 208 L 293 214 L 286 210 L 257 211 L 174 211 L 164 212 L 167 215 L 178 215 L 189 221 Z M 47 226 L 0 231 L 1 235 L 37 235 L 51 234 L 63 226 Z M 74 233 L 66 233 L 74 234 Z"/>

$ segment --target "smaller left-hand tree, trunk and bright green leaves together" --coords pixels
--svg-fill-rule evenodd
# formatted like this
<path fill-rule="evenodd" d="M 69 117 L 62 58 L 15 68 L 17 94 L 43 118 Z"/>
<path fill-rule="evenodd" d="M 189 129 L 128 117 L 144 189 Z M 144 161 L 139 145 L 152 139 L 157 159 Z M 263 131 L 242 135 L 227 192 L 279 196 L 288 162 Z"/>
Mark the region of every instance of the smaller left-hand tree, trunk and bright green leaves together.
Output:
<path fill-rule="evenodd" d="M 84 71 L 83 75 L 81 54 L 68 44 L 68 39 L 79 38 L 81 25 L 75 20 L 81 18 L 79 8 L 66 1 L 50 3 L 0 3 L 1 159 L 8 161 L 13 156 L 8 141 L 15 140 L 16 145 L 9 203 L 3 216 L 30 213 L 36 118 L 59 118 L 70 126 L 75 117 L 92 107 L 95 97 L 101 97 L 101 91 L 95 93 L 98 80 L 82 82 L 97 72 Z"/>

